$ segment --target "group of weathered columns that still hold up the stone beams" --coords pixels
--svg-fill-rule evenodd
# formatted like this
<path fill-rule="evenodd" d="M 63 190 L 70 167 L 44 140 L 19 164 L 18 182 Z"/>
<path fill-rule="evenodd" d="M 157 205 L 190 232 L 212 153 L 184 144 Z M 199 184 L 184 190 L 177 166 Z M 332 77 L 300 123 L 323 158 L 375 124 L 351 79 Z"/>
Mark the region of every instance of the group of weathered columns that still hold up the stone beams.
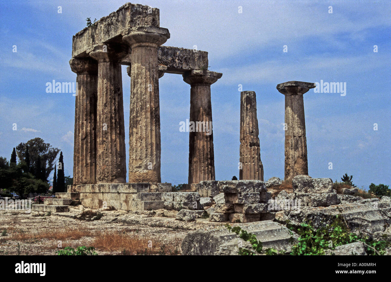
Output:
<path fill-rule="evenodd" d="M 129 50 L 129 182 L 161 182 L 159 78 L 164 73 L 158 71 L 158 46 L 169 37 L 164 28 L 135 27 L 122 31 L 126 45 L 95 45 L 87 50 L 89 57 L 70 60 L 78 82 L 74 185 L 126 182 L 120 62 Z M 189 71 L 183 75 L 191 86 L 190 121 L 212 122 L 210 85 L 221 76 L 212 71 Z M 213 133 L 190 132 L 189 137 L 189 183 L 215 180 Z"/>

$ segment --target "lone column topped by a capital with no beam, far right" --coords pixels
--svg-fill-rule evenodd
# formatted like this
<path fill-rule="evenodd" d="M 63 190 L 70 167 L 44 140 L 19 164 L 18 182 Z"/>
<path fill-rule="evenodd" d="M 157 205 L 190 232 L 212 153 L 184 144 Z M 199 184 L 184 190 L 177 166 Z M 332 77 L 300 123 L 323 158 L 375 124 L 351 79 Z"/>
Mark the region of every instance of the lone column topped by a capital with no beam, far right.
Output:
<path fill-rule="evenodd" d="M 289 81 L 277 85 L 285 95 L 285 180 L 308 175 L 303 94 L 315 84 Z"/>

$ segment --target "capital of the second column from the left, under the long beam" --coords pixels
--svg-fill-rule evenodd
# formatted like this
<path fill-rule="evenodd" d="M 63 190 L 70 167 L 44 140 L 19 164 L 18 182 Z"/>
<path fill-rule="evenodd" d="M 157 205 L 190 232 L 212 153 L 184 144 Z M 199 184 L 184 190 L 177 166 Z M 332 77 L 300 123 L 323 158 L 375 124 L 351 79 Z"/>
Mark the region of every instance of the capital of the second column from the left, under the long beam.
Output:
<path fill-rule="evenodd" d="M 98 62 L 120 61 L 129 54 L 129 46 L 116 43 L 97 44 L 89 48 L 87 53 Z"/>

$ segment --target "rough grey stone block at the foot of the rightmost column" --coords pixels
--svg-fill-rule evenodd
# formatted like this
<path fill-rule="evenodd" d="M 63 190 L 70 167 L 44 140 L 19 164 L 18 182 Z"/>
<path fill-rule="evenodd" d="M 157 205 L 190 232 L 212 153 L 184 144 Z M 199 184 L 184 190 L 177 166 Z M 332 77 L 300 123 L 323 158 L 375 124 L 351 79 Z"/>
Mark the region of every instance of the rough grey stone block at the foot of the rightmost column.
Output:
<path fill-rule="evenodd" d="M 332 193 L 333 181 L 330 178 L 293 178 L 294 193 Z"/>

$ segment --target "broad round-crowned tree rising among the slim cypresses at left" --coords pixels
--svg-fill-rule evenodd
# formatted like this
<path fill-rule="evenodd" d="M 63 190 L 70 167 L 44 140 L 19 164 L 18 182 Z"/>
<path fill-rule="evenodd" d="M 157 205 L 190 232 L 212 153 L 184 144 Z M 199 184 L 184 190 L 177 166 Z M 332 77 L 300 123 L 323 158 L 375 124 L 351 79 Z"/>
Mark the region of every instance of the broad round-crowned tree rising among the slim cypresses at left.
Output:
<path fill-rule="evenodd" d="M 16 146 L 16 154 L 18 155 L 19 161 L 24 161 L 25 166 L 29 168 L 29 172 L 31 172 L 36 178 L 44 178 L 46 181 L 49 174 L 54 169 L 54 161 L 56 160 L 59 151 L 60 150 L 58 148 L 53 148 L 49 143 L 45 143 L 45 141 L 39 137 L 31 139 L 27 141 L 27 143 L 20 143 Z M 41 172 L 45 175 L 45 177 L 35 175 L 37 171 L 36 162 L 38 162 L 38 159 L 40 159 L 41 162 Z"/>

